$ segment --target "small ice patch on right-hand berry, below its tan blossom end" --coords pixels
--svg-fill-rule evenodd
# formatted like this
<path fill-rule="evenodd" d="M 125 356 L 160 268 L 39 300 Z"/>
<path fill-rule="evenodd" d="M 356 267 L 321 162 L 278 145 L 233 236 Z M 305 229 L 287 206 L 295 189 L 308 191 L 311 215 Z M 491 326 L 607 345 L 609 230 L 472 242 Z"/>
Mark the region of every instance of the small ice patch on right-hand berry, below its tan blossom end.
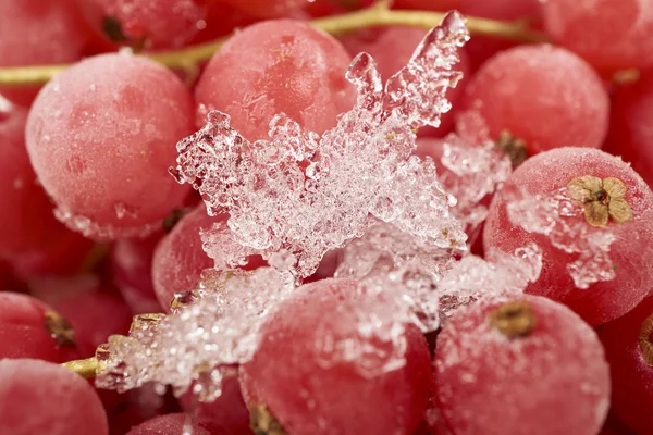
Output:
<path fill-rule="evenodd" d="M 547 196 L 529 195 L 517 188 L 503 194 L 514 225 L 542 234 L 554 247 L 578 254 L 576 261 L 567 264 L 576 287 L 588 288 L 593 283 L 615 277 L 608 256 L 614 234 L 589 226 L 582 217 L 582 208 L 575 203 L 567 187 Z"/>

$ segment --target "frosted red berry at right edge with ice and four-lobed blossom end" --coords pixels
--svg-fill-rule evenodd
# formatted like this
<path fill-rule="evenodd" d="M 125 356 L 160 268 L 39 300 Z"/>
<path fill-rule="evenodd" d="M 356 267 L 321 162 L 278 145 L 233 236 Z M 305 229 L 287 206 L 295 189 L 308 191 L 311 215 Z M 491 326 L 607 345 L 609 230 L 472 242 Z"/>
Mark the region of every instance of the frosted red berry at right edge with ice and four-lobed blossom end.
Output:
<path fill-rule="evenodd" d="M 626 187 L 624 200 L 630 208 L 631 219 L 616 223 L 609 217 L 605 226 L 616 237 L 608 252 L 614 263 L 615 278 L 579 289 L 567 271 L 567 265 L 578 259 L 578 253 L 566 253 L 555 248 L 545 236 L 527 233 L 510 223 L 504 191 L 519 187 L 531 195 L 550 195 L 583 176 L 620 181 Z M 526 291 L 564 303 L 588 323 L 597 325 L 627 313 L 653 288 L 650 270 L 653 262 L 652 206 L 651 189 L 620 159 L 593 149 L 559 148 L 528 159 L 510 175 L 504 189 L 494 196 L 483 231 L 483 246 L 485 252 L 490 249 L 513 252 L 529 243 L 540 245 L 543 250 L 542 273 L 537 282 L 529 284 Z M 588 220 L 587 214 L 574 219 L 580 222 Z M 584 223 L 590 225 L 589 222 Z"/>

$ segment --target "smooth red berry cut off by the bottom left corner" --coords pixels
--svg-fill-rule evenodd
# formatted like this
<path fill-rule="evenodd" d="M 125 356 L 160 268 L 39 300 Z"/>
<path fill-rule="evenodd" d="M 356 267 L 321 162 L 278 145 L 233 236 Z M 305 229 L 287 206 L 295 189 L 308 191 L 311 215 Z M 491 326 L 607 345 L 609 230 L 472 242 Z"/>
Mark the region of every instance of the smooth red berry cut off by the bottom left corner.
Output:
<path fill-rule="evenodd" d="M 0 360 L 0 434 L 108 433 L 102 402 L 82 376 L 50 362 Z"/>

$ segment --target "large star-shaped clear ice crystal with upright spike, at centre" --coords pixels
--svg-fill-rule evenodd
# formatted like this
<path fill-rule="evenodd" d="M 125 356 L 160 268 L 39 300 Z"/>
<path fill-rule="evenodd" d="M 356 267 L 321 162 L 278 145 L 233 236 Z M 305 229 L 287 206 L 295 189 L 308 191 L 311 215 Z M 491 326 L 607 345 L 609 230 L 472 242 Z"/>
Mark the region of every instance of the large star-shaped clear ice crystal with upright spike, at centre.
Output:
<path fill-rule="evenodd" d="M 293 273 L 305 277 L 326 251 L 377 221 L 441 248 L 463 245 L 453 197 L 433 163 L 412 151 L 414 129 L 438 126 L 451 108 L 444 95 L 460 79 L 452 66 L 468 38 L 461 16 L 448 14 L 385 86 L 371 57 L 359 54 L 347 72 L 357 104 L 321 137 L 282 113 L 270 124 L 270 139 L 251 144 L 226 114 L 211 112 L 204 128 L 177 144 L 173 172 L 202 195 L 209 213 L 227 209 L 231 215 L 230 248 L 205 237 L 215 265 L 285 250 L 297 259 Z"/>

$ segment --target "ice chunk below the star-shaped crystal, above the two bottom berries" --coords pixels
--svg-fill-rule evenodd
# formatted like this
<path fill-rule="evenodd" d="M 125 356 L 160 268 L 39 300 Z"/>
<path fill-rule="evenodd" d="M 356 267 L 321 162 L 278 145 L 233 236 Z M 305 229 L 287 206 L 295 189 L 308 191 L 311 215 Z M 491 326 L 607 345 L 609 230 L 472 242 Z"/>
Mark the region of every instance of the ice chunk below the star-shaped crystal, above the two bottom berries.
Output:
<path fill-rule="evenodd" d="M 457 253 L 381 223 L 344 248 L 335 276 L 359 279 L 393 300 L 394 312 L 387 319 L 394 316 L 394 324 L 412 323 L 432 332 L 442 316 L 464 304 L 523 291 L 542 268 L 542 252 L 534 244 L 513 254 L 491 251 L 486 260 L 476 256 L 456 260 Z"/>

